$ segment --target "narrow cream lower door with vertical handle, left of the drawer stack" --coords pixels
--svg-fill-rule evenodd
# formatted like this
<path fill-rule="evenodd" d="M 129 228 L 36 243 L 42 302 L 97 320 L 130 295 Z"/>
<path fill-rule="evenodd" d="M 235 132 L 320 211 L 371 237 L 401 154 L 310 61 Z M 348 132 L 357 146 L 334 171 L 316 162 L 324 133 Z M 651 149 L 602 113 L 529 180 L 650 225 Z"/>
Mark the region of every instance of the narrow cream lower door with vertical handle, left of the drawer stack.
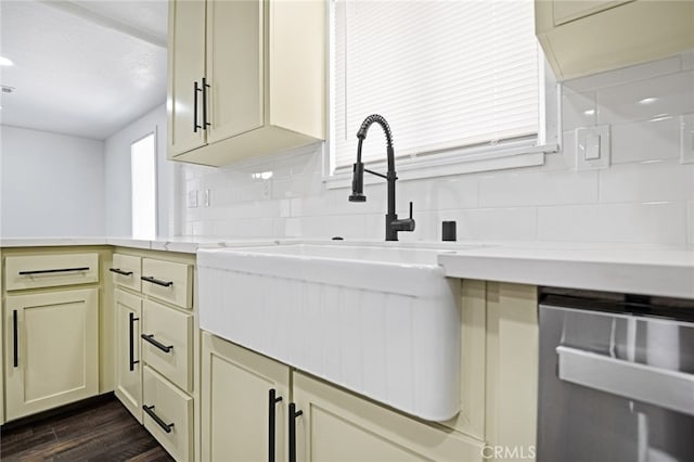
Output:
<path fill-rule="evenodd" d="M 142 299 L 116 288 L 116 396 L 142 423 Z"/>

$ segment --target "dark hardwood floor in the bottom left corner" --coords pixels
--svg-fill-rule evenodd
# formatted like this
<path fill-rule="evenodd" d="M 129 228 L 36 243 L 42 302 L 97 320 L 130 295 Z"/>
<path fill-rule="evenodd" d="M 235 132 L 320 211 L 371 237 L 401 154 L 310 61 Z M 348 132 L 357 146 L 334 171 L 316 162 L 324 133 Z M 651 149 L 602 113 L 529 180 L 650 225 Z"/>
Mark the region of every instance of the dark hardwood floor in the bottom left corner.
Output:
<path fill-rule="evenodd" d="M 172 461 L 114 398 L 37 421 L 8 424 L 0 434 L 5 461 Z"/>

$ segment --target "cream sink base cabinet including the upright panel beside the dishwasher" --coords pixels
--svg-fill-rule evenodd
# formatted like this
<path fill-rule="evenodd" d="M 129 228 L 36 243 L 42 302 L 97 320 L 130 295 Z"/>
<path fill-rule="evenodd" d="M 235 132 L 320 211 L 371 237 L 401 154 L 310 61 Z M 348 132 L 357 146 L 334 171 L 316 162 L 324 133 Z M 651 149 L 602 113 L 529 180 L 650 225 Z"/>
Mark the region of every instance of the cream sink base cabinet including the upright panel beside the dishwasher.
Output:
<path fill-rule="evenodd" d="M 514 460 L 509 454 L 532 460 L 537 288 L 461 284 L 461 411 L 455 418 L 421 421 L 203 332 L 202 460 Z M 280 401 L 270 397 L 272 390 Z M 271 447 L 274 459 L 268 455 Z"/>

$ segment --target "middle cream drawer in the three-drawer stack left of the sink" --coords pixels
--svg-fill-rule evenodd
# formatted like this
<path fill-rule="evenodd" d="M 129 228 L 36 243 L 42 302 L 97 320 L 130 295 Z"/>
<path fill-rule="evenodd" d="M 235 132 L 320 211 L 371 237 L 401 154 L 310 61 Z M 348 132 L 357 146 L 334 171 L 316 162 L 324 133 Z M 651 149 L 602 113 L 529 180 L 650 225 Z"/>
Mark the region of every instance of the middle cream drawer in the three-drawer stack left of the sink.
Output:
<path fill-rule="evenodd" d="M 144 301 L 142 358 L 179 387 L 193 388 L 193 317 Z"/>

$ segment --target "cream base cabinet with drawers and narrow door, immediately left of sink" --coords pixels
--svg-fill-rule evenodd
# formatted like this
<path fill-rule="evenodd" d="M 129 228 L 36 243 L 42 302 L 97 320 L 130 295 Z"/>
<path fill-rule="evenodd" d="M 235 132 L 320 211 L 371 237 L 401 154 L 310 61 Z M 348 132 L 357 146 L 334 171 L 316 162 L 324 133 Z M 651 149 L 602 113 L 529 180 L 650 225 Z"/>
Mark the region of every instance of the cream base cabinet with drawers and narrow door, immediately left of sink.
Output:
<path fill-rule="evenodd" d="M 113 256 L 116 397 L 177 461 L 200 459 L 194 256 Z"/>

